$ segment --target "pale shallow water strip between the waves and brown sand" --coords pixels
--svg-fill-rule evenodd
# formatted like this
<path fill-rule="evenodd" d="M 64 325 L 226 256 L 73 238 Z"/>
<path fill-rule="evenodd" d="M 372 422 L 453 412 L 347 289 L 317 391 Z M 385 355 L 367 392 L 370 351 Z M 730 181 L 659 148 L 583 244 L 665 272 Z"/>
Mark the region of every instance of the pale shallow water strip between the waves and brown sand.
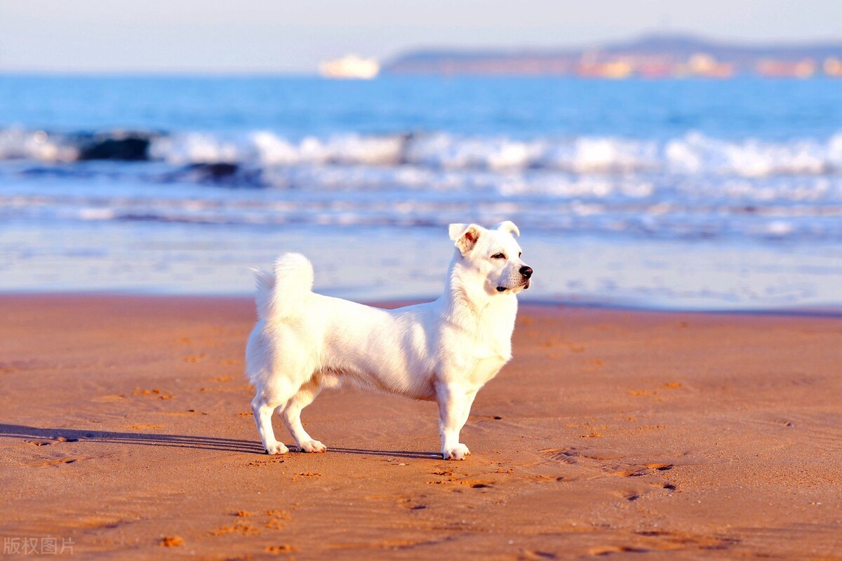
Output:
<path fill-rule="evenodd" d="M 0 231 L 0 253 L 6 252 L 0 291 L 11 292 L 248 295 L 254 286 L 249 267 L 269 267 L 281 252 L 299 251 L 313 263 L 320 294 L 358 302 L 418 300 L 440 294 L 453 252 L 445 232 L 432 228 L 232 229 L 102 221 L 10 224 Z M 842 310 L 838 245 L 602 239 L 540 229 L 524 230 L 521 243 L 536 270 L 525 301 L 658 310 Z"/>

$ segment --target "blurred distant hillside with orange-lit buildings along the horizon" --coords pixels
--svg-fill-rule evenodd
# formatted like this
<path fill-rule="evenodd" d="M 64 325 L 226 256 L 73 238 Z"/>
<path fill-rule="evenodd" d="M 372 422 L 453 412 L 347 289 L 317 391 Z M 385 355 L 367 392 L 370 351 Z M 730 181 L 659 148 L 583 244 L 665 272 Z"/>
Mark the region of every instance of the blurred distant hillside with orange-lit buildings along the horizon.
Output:
<path fill-rule="evenodd" d="M 842 42 L 746 45 L 653 34 L 581 49 L 415 50 L 387 62 L 382 72 L 613 78 L 842 76 Z"/>

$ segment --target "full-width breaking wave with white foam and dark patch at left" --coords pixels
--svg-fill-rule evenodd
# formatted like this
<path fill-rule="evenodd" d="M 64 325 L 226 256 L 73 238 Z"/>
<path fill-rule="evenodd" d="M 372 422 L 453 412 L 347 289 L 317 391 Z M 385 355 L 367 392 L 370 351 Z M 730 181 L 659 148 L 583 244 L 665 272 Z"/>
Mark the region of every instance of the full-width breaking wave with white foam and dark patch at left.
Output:
<path fill-rule="evenodd" d="M 60 134 L 0 130 L 0 160 L 42 163 L 163 161 L 173 166 L 412 166 L 434 170 L 679 174 L 774 177 L 838 174 L 842 131 L 828 139 L 722 140 L 699 133 L 664 141 L 615 137 L 512 139 L 449 133 L 290 138 L 269 131 L 220 135 L 114 130 Z"/>

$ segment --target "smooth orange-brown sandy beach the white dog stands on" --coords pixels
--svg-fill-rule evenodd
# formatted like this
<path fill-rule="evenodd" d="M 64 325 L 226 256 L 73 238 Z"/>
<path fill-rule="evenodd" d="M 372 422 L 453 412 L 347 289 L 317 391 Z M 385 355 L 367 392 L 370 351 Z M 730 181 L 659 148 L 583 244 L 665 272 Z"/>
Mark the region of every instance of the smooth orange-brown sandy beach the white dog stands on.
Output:
<path fill-rule="evenodd" d="M 839 318 L 523 307 L 466 462 L 434 404 L 353 389 L 305 410 L 328 453 L 261 453 L 247 299 L 0 318 L 6 557 L 842 558 Z"/>

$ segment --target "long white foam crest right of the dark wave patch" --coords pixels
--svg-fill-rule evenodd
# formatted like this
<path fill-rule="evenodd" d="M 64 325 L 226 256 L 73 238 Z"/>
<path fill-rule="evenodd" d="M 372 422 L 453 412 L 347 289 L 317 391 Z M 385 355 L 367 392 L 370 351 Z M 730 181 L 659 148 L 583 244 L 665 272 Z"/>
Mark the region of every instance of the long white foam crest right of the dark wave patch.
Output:
<path fill-rule="evenodd" d="M 188 133 L 152 140 L 150 156 L 173 164 L 239 162 L 255 166 L 412 165 L 445 170 L 572 173 L 660 171 L 771 177 L 842 169 L 842 133 L 828 140 L 722 140 L 699 133 L 658 142 L 613 137 L 515 140 L 505 137 L 333 135 L 291 140 L 269 131 L 237 138 Z"/>

